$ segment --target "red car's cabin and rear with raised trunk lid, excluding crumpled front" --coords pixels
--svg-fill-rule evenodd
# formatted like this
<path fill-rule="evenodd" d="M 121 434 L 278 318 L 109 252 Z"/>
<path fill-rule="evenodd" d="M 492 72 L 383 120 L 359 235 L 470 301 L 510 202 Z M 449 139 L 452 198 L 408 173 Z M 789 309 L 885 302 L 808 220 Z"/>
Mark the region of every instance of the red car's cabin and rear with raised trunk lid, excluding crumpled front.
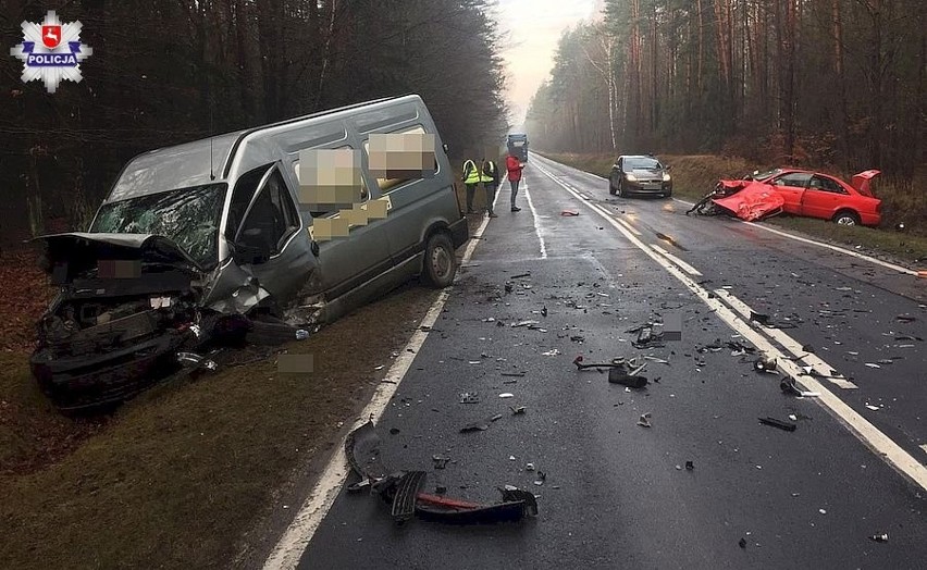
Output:
<path fill-rule="evenodd" d="M 881 200 L 870 184 L 879 174 L 867 170 L 855 174 L 852 184 L 836 176 L 801 169 L 775 169 L 754 172 L 739 181 L 718 183 L 731 194 L 751 183 L 763 183 L 783 199 L 782 211 L 792 215 L 831 220 L 842 225 L 877 226 L 881 222 Z"/>

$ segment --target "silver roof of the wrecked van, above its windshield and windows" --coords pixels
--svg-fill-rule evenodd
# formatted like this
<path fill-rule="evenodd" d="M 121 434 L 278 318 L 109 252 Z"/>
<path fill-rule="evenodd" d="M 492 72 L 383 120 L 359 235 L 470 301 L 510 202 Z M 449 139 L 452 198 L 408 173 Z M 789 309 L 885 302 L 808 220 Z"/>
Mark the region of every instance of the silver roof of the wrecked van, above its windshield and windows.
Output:
<path fill-rule="evenodd" d="M 236 152 L 249 135 L 279 131 L 287 125 L 296 127 L 321 116 L 336 119 L 337 114 L 355 109 L 370 106 L 376 109 L 381 107 L 378 103 L 392 104 L 404 99 L 410 102 L 421 100 L 417 95 L 386 97 L 143 152 L 123 168 L 106 202 L 225 182 Z"/>

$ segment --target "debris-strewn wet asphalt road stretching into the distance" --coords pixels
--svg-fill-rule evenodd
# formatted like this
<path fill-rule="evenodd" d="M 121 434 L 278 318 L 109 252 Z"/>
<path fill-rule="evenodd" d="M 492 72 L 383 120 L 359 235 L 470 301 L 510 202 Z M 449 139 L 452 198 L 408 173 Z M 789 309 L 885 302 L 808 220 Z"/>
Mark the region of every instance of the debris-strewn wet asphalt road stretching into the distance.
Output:
<path fill-rule="evenodd" d="M 384 503 L 342 491 L 300 568 L 924 568 L 923 280 L 687 218 L 675 200 L 610 197 L 603 179 L 536 154 L 524 177 L 522 211 L 503 207 L 506 184 L 379 428 L 384 463 L 428 471 L 424 491 L 494 503 L 516 485 L 537 495 L 539 516 L 396 526 Z M 751 323 L 744 305 L 779 327 Z M 632 346 L 626 331 L 672 319 L 680 340 Z M 539 323 L 511 326 L 526 320 Z M 824 389 L 795 398 L 755 357 L 704 348 L 757 338 L 787 358 L 813 350 L 783 369 L 839 377 L 801 376 Z M 578 371 L 577 355 L 668 363 L 647 360 L 651 382 L 632 391 Z M 480 401 L 461 404 L 467 392 Z M 652 426 L 638 425 L 647 412 Z M 794 432 L 757 421 L 790 414 Z"/>

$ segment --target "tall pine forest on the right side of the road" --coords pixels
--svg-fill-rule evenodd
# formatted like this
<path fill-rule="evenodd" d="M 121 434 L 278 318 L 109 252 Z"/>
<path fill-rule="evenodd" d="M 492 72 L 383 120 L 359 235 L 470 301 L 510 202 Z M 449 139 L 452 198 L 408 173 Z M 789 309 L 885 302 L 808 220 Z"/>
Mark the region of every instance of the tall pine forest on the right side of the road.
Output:
<path fill-rule="evenodd" d="M 535 148 L 737 153 L 911 181 L 927 163 L 922 3 L 607 0 L 601 25 L 564 33 L 531 104 Z M 617 48 L 611 103 L 589 64 L 604 41 Z M 609 104 L 617 148 L 598 135 Z"/>

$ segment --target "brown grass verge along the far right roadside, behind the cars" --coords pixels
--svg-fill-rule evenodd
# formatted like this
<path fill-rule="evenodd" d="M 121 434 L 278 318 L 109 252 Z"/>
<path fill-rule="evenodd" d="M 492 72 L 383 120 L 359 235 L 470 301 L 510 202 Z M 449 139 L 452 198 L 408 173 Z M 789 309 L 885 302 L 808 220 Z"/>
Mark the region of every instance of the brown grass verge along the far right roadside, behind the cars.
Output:
<path fill-rule="evenodd" d="M 569 164 L 585 172 L 608 177 L 615 158 L 610 154 L 571 154 L 543 153 L 544 156 Z M 660 159 L 672 166 L 673 196 L 688 200 L 697 200 L 714 187 L 718 178 L 740 177 L 746 172 L 756 170 L 744 159 L 702 156 L 662 156 Z M 886 188 L 883 191 L 891 190 Z M 890 200 L 883 202 L 882 210 L 890 207 Z M 918 214 L 919 215 L 919 214 Z M 888 228 L 848 227 L 811 218 L 776 216 L 763 223 L 775 225 L 791 232 L 833 243 L 863 249 L 880 257 L 899 260 L 914 269 L 927 269 L 927 235 L 895 232 Z M 915 219 L 915 227 L 920 227 L 927 220 Z M 916 230 L 915 230 L 916 231 Z"/>

